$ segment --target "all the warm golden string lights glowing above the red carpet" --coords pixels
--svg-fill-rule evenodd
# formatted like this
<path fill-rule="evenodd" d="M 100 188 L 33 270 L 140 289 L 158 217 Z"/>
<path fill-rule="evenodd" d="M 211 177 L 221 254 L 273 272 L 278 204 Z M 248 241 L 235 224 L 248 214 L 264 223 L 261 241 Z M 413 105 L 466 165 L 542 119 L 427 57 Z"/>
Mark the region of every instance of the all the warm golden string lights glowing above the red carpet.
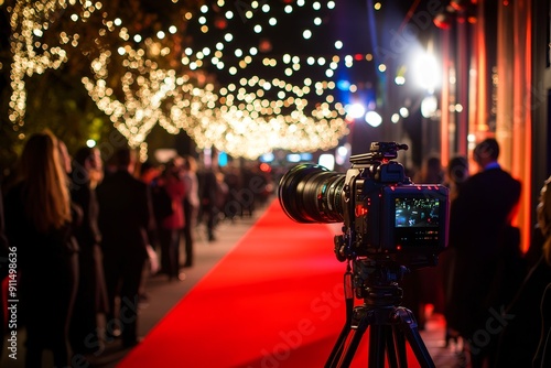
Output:
<path fill-rule="evenodd" d="M 197 50 L 169 42 L 170 35 L 177 36 L 180 33 L 173 24 L 166 30 L 158 30 L 151 37 L 133 34 L 131 28 L 126 26 L 120 18 L 111 17 L 100 1 L 17 2 L 11 10 L 14 58 L 10 120 L 14 129 L 23 125 L 26 101 L 24 76 L 58 68 L 67 62 L 66 47 L 79 45 L 78 28 L 73 33 L 60 32 L 55 45 L 40 43 L 42 34 L 56 21 L 55 17 L 66 12 L 67 7 L 73 7 L 67 13 L 75 24 L 88 22 L 95 14 L 101 18 L 97 23 L 102 28 L 98 30 L 99 39 L 95 41 L 99 48 L 108 44 L 101 37 L 109 33 L 119 37 L 120 46 L 112 48 L 114 52 L 98 50 L 99 56 L 90 62 L 93 76 L 84 77 L 82 82 L 98 108 L 109 117 L 129 144 L 140 148 L 142 158 L 147 154 L 145 139 L 156 123 L 170 133 L 185 130 L 199 148 L 216 147 L 228 154 L 251 159 L 277 148 L 292 151 L 329 149 L 348 132 L 343 120 L 344 108 L 333 95 L 334 83 L 312 79 L 312 75 L 317 74 L 331 76 L 331 72 L 337 68 L 338 57 L 329 57 L 327 59 L 332 63 L 327 63 L 324 57 L 316 56 L 312 66 L 327 68 L 325 74 L 310 71 L 312 74 L 298 84 L 299 74 L 307 74 L 307 56 L 289 54 L 266 57 L 272 45 L 261 35 L 266 30 L 285 23 L 271 14 L 274 8 L 251 2 L 249 9 L 235 12 L 231 4 L 226 6 L 222 0 L 216 4 L 217 9 L 222 9 L 222 18 L 207 6 L 203 6 L 197 14 L 190 12 L 184 17 L 190 23 L 196 20 L 205 35 L 212 36 L 212 30 L 220 31 L 222 36 L 214 39 L 215 47 L 201 46 Z M 284 13 L 292 14 L 303 7 L 304 1 L 287 6 Z M 101 12 L 97 11 L 99 9 Z M 313 9 L 320 11 L 321 4 L 315 3 Z M 263 23 L 262 19 L 257 19 L 259 14 L 270 17 L 263 17 L 268 20 Z M 250 25 L 251 32 L 260 35 L 260 42 L 257 45 L 237 42 L 229 31 L 236 21 Z M 316 14 L 310 26 L 322 23 Z M 307 40 L 314 34 L 313 29 L 303 31 L 307 33 Z M 139 43 L 143 48 L 134 50 L 129 42 Z M 338 45 L 342 46 L 341 43 Z M 183 50 L 180 67 L 160 67 L 155 62 L 179 48 Z M 109 78 L 109 64 L 127 68 L 118 86 L 112 85 L 112 77 Z M 212 73 L 209 66 L 231 78 L 248 77 L 228 83 L 224 78 L 216 84 L 206 83 Z M 249 69 L 253 71 L 253 75 L 247 72 Z M 280 75 L 276 77 L 260 77 L 278 73 Z"/>

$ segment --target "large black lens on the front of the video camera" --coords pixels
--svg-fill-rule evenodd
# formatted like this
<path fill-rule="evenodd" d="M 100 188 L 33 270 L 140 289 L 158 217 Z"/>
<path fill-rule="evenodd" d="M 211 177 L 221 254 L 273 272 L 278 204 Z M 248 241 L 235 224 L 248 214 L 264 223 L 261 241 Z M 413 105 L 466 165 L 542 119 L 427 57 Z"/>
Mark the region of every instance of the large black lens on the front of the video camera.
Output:
<path fill-rule="evenodd" d="M 345 178 L 321 165 L 296 165 L 280 181 L 281 207 L 298 223 L 343 221 Z"/>

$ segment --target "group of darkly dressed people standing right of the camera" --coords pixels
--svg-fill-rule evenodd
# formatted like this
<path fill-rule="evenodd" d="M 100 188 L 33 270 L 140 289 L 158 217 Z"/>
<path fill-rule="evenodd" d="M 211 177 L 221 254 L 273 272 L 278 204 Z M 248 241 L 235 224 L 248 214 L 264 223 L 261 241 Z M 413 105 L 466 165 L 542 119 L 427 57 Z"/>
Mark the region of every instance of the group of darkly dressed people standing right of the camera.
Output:
<path fill-rule="evenodd" d="M 498 158 L 499 144 L 488 138 L 473 151 L 474 170 L 467 156 L 447 165 L 426 159 L 414 182 L 450 188 L 449 245 L 435 268 L 404 278 L 403 304 L 421 329 L 428 304 L 445 317 L 445 346 L 462 343 L 465 367 L 549 367 L 551 177 L 531 243 L 523 246 L 514 225 L 522 183 Z"/>

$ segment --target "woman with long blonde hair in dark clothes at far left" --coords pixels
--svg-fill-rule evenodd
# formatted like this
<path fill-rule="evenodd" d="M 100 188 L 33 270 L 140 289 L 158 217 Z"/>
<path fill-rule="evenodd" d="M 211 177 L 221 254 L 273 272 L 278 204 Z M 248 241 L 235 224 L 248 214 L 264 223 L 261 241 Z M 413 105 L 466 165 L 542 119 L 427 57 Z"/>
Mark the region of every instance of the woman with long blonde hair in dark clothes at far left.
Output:
<path fill-rule="evenodd" d="M 77 250 L 68 177 L 50 131 L 35 133 L 20 158 L 4 199 L 6 234 L 17 252 L 19 321 L 26 328 L 25 367 L 41 367 L 50 349 L 71 366 L 68 322 L 76 292 Z"/>

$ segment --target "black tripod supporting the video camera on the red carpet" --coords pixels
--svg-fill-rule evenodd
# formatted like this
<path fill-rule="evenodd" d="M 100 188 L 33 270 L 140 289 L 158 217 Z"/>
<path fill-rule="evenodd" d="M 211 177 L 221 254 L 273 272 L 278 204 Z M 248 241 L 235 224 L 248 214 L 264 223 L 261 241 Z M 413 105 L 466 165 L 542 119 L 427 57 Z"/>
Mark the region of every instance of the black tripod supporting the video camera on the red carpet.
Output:
<path fill-rule="evenodd" d="M 325 368 L 349 367 L 368 327 L 369 368 L 383 368 L 386 358 L 390 368 L 408 367 L 406 342 L 410 344 L 421 367 L 433 368 L 434 362 L 419 334 L 413 313 L 398 306 L 402 290 L 396 281 L 401 280 L 406 268 L 386 263 L 381 266 L 368 260 L 354 262 L 354 274 L 348 264 L 344 280 L 346 322 Z M 353 289 L 356 295 L 364 299 L 363 305 L 354 306 Z"/>

